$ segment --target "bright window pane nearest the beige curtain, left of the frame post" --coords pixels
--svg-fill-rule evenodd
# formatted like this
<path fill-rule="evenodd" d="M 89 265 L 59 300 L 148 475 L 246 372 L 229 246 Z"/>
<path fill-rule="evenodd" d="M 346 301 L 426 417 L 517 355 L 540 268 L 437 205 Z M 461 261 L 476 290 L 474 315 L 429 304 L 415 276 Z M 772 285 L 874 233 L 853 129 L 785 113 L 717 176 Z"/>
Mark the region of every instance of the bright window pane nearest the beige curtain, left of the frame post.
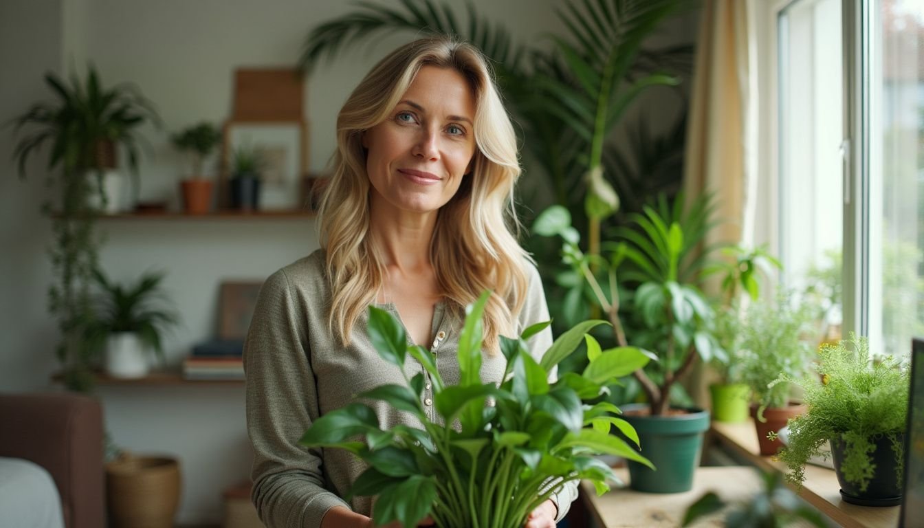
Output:
<path fill-rule="evenodd" d="M 798 0 L 777 18 L 779 253 L 783 282 L 841 325 L 844 74 L 841 0 Z"/>

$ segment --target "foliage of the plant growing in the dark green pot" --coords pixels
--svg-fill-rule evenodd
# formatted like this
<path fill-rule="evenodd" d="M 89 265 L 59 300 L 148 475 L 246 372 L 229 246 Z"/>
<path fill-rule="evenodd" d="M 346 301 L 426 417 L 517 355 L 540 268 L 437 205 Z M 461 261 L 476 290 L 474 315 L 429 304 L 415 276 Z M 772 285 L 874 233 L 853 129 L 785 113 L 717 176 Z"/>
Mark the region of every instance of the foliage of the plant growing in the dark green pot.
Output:
<path fill-rule="evenodd" d="M 577 292 L 569 295 L 582 299 L 585 284 L 589 286 L 591 301 L 613 326 L 615 342 L 620 347 L 631 342 L 657 354 L 659 361 L 651 363 L 650 370 L 632 373 L 653 415 L 667 412 L 675 383 L 698 356 L 708 361 L 723 353 L 711 335 L 714 313 L 695 286 L 704 258 L 695 248 L 711 225 L 710 211 L 708 195 L 699 197 L 687 211 L 682 199 L 671 207 L 663 198 L 657 208 L 649 206 L 643 214 L 631 215 L 636 228 L 616 230 L 614 241 L 602 244 L 605 255 L 581 251 L 580 235 L 565 207 L 546 209 L 533 224 L 535 234 L 563 239 L 562 254 L 571 268 L 563 280 Z M 633 265 L 617 274 L 629 263 Z M 638 284 L 631 297 L 632 312 L 639 319 L 632 336 L 620 314 L 620 281 Z"/>

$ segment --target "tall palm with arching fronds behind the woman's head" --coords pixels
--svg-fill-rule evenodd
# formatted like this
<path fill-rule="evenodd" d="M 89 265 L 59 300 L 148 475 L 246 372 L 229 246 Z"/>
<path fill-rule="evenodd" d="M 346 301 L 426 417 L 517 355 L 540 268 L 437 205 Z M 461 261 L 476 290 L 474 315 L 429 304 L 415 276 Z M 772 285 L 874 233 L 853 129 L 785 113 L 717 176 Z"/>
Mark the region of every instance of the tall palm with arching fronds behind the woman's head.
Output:
<path fill-rule="evenodd" d="M 459 21 L 454 7 L 435 0 L 401 0 L 395 8 L 359 2 L 356 10 L 310 31 L 300 64 L 310 72 L 324 56 L 395 30 L 450 34 L 474 43 L 492 59 L 505 101 L 523 125 L 525 148 L 551 178 L 556 202 L 590 218 L 590 251 L 596 252 L 601 222 L 619 205 L 603 170 L 604 153 L 612 150 L 606 141 L 640 93 L 678 82 L 652 72 L 680 67 L 690 55 L 688 46 L 646 51 L 641 43 L 665 18 L 690 4 L 565 2 L 558 14 L 567 31 L 552 36 L 550 52 L 514 42 L 503 25 L 479 17 L 470 2 L 467 24 Z M 577 196 L 568 191 L 574 188 L 581 190 Z"/>

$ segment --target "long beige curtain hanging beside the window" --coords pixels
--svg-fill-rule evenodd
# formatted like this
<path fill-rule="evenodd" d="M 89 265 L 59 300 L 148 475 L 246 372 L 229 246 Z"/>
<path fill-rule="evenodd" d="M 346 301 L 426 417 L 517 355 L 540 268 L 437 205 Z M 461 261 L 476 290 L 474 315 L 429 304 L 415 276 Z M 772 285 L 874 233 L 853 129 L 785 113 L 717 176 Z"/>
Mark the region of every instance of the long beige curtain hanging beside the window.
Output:
<path fill-rule="evenodd" d="M 752 0 L 704 0 L 690 94 L 684 191 L 687 203 L 703 192 L 714 195 L 715 219 L 706 246 L 750 244 L 756 152 L 756 49 Z M 718 277 L 703 285 L 718 293 Z M 708 407 L 714 378 L 701 362 L 685 385 L 700 406 Z"/>

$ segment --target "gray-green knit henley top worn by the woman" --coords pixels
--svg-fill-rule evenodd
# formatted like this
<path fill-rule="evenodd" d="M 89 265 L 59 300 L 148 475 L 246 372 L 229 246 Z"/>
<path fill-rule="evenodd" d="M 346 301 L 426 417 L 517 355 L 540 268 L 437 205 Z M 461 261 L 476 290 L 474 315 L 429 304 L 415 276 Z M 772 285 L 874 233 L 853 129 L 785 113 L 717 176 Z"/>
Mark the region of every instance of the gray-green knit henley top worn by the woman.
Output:
<path fill-rule="evenodd" d="M 549 319 L 539 273 L 532 264 L 527 267 L 529 294 L 517 332 Z M 349 346 L 338 344 L 327 325 L 330 302 L 324 252 L 318 250 L 266 280 L 250 323 L 244 367 L 247 429 L 254 449 L 251 498 L 267 528 L 316 528 L 334 506 L 371 515 L 371 497 L 354 497 L 351 504 L 342 498 L 365 471 L 364 462 L 343 449 L 304 448 L 298 439 L 323 413 L 346 406 L 355 395 L 374 387 L 404 385 L 405 378 L 372 347 L 367 313 L 360 315 Z M 398 315 L 394 304 L 378 306 Z M 456 349 L 461 327 L 461 320 L 438 303 L 433 313 L 433 343 L 421 343 L 431 345 L 447 386 L 459 379 Z M 546 329 L 529 340 L 529 350 L 539 356 L 551 344 L 552 332 Z M 408 357 L 405 370 L 410 377 L 423 367 Z M 504 370 L 503 354 L 484 354 L 482 381 L 500 382 Z M 424 390 L 423 399 L 431 419 L 437 421 L 431 387 Z M 364 402 L 371 405 L 383 429 L 397 424 L 422 428 L 416 418 L 383 401 Z M 565 485 L 553 497 L 559 519 L 575 497 L 575 483 Z"/>

